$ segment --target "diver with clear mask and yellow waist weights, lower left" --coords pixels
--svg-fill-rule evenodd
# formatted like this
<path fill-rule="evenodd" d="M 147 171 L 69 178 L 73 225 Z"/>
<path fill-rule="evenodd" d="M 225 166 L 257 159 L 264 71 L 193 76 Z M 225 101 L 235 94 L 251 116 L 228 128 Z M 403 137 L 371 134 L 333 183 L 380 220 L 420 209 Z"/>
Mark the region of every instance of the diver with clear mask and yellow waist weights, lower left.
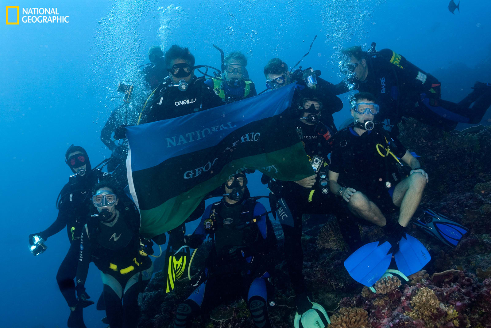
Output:
<path fill-rule="evenodd" d="M 116 186 L 98 183 L 91 201 L 98 214 L 82 229 L 76 287 L 79 303 L 87 302 L 85 279 L 94 262 L 101 271 L 109 326 L 136 328 L 142 293 L 152 277 L 148 255 L 153 253 L 153 243 L 138 235 L 139 213 Z"/>

